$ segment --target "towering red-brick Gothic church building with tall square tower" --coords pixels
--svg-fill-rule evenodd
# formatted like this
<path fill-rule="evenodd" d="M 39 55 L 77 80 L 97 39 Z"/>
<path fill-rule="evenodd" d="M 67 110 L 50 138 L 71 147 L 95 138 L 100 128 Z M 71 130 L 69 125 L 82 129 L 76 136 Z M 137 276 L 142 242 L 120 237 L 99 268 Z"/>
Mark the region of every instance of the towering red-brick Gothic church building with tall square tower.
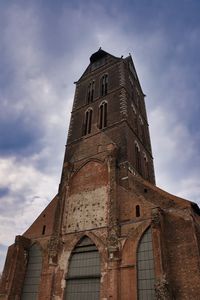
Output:
<path fill-rule="evenodd" d="M 76 82 L 58 194 L 8 249 L 0 299 L 200 299 L 200 210 L 155 185 L 132 57 Z"/>

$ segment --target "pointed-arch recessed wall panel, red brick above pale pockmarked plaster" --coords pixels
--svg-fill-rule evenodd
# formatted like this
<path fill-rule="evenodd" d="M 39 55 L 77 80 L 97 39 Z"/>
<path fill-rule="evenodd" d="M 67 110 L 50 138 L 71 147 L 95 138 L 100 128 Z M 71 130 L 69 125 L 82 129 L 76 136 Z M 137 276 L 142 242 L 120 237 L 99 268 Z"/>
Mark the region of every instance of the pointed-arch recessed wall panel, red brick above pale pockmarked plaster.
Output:
<path fill-rule="evenodd" d="M 70 182 L 63 232 L 89 230 L 107 224 L 107 165 L 91 161 Z"/>

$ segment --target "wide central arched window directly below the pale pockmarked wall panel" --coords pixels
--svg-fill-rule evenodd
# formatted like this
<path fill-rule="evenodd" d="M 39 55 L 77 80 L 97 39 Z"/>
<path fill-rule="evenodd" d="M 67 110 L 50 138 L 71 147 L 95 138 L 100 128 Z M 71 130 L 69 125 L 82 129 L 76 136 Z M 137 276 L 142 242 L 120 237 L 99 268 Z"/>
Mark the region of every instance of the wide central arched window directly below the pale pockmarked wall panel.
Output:
<path fill-rule="evenodd" d="M 65 300 L 100 298 L 100 255 L 95 244 L 84 237 L 72 251 Z"/>

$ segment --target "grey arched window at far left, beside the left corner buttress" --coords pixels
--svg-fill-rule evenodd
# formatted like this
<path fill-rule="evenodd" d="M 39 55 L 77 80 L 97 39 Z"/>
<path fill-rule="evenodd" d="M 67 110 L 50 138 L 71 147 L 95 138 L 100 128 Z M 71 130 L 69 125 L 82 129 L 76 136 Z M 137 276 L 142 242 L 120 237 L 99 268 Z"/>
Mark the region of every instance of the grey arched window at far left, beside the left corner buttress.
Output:
<path fill-rule="evenodd" d="M 38 299 L 41 270 L 41 251 L 39 246 L 34 244 L 28 252 L 28 264 L 24 277 L 21 300 Z"/>

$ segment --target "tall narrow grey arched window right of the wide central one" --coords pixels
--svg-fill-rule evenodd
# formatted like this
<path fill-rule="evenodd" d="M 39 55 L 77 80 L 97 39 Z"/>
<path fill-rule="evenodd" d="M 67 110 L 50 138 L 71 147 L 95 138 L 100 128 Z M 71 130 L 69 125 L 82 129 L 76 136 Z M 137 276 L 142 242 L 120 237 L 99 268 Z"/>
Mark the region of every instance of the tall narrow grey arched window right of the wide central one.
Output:
<path fill-rule="evenodd" d="M 138 300 L 155 299 L 155 272 L 151 228 L 143 234 L 137 251 Z"/>

